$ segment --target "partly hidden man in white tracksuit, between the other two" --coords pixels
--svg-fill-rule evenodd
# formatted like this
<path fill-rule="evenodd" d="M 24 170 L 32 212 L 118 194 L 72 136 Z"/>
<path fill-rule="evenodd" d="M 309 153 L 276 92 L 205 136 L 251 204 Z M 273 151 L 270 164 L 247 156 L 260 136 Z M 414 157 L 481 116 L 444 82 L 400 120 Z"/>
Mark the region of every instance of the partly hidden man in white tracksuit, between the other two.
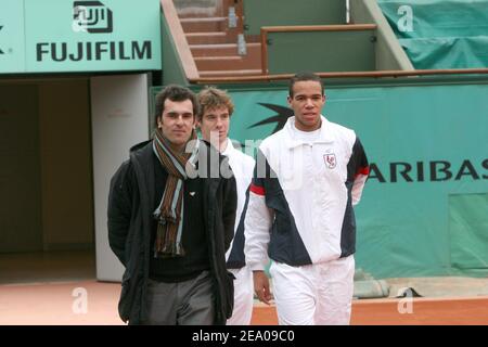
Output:
<path fill-rule="evenodd" d="M 249 325 L 253 313 L 253 274 L 244 256 L 244 216 L 249 196 L 255 160 L 235 149 L 228 138 L 230 118 L 234 105 L 230 97 L 220 89 L 207 87 L 198 93 L 201 112 L 197 125 L 204 140 L 229 157 L 237 188 L 234 239 L 226 254 L 227 268 L 234 279 L 234 309 L 228 325 Z"/>

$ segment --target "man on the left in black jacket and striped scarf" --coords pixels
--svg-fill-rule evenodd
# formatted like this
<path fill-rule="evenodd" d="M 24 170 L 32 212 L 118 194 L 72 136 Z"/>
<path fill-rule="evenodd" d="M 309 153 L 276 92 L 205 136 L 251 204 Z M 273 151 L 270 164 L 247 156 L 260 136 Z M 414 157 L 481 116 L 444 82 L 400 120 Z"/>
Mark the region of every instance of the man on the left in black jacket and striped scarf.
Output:
<path fill-rule="evenodd" d="M 111 181 L 108 241 L 126 267 L 118 310 L 129 324 L 224 324 L 232 314 L 224 254 L 235 180 L 196 138 L 197 112 L 192 91 L 163 90 L 154 139 L 133 146 Z"/>

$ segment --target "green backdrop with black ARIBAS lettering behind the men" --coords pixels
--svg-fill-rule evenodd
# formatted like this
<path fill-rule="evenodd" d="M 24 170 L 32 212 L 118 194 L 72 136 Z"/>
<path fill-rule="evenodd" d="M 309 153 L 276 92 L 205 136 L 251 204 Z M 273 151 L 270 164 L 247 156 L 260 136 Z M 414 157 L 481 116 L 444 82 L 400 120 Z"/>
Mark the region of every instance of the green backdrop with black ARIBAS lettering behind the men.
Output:
<path fill-rule="evenodd" d="M 280 129 L 287 91 L 229 89 L 230 137 Z M 326 87 L 324 115 L 356 130 L 371 163 L 357 216 L 357 266 L 376 278 L 488 275 L 488 79 Z"/>

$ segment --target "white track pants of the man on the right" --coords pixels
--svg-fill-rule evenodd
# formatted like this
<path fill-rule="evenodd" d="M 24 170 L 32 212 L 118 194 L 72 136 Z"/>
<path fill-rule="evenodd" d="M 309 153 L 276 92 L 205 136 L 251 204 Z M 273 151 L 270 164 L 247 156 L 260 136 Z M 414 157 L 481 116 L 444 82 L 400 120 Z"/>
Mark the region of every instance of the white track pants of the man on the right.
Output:
<path fill-rule="evenodd" d="M 348 325 L 355 258 L 291 267 L 272 262 L 270 274 L 280 325 Z"/>

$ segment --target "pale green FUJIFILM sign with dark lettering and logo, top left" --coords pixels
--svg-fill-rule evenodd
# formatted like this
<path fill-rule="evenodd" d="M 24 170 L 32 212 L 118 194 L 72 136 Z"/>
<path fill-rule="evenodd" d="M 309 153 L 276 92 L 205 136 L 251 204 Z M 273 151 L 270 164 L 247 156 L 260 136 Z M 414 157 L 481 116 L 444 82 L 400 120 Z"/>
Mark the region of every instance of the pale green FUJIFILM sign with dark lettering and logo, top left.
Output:
<path fill-rule="evenodd" d="M 158 0 L 24 1 L 27 72 L 160 69 Z"/>

